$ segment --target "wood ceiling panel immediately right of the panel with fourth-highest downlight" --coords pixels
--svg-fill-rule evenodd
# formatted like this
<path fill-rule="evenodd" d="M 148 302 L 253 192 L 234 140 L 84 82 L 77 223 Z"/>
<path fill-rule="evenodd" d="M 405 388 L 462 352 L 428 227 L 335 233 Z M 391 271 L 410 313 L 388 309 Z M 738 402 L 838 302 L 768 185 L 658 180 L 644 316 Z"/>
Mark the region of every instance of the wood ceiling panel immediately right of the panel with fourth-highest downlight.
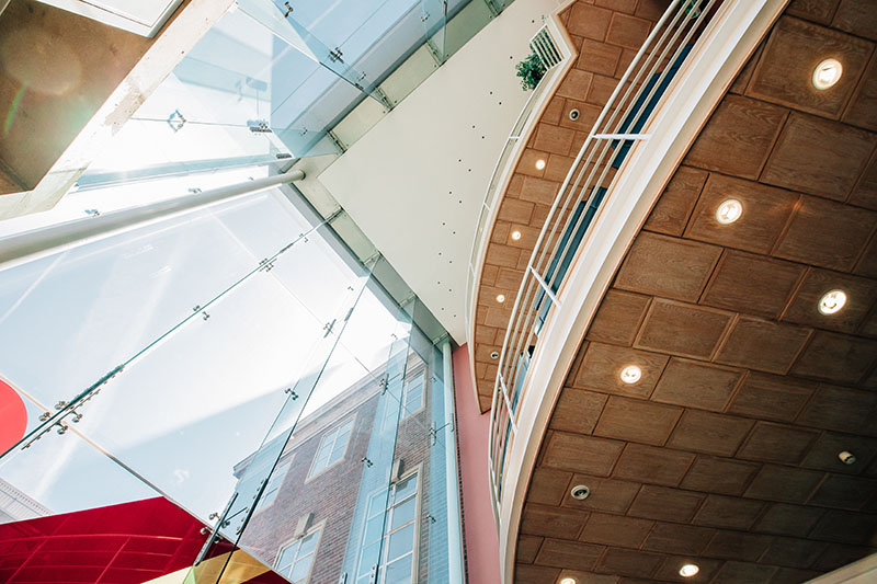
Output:
<path fill-rule="evenodd" d="M 720 412 L 725 410 L 742 377 L 743 371 L 740 369 L 673 357 L 651 399 Z"/>

